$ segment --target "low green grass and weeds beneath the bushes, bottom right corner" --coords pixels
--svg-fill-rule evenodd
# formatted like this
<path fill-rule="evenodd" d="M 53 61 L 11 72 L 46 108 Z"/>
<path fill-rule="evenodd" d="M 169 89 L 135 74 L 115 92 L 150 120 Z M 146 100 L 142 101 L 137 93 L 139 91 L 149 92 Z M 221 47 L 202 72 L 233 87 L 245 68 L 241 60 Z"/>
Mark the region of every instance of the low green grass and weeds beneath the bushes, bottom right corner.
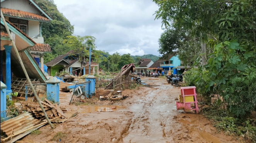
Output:
<path fill-rule="evenodd" d="M 223 130 L 226 135 L 242 136 L 243 140 L 256 142 L 255 119 L 241 120 L 233 117 L 226 110 L 216 107 L 203 108 L 201 113 L 213 121 L 218 131 Z"/>

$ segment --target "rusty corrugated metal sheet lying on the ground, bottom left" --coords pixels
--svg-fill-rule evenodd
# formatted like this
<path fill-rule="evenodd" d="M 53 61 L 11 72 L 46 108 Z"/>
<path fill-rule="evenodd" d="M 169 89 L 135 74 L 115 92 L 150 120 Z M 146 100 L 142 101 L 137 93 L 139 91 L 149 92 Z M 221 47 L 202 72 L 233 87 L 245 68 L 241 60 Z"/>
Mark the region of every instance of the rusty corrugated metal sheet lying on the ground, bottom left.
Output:
<path fill-rule="evenodd" d="M 5 132 L 7 136 L 13 135 L 22 130 L 26 130 L 32 126 L 39 124 L 40 122 L 40 120 L 35 119 L 32 115 L 33 115 L 32 113 L 26 112 L 15 118 L 2 122 L 0 124 L 1 125 L 0 128 L 3 132 Z"/>

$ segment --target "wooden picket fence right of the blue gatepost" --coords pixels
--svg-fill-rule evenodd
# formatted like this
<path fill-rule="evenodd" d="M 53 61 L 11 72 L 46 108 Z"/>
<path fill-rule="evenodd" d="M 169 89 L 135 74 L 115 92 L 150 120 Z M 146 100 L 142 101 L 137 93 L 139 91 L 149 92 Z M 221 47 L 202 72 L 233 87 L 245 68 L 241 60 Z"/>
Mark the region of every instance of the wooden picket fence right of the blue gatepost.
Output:
<path fill-rule="evenodd" d="M 106 78 L 99 77 L 96 79 L 95 89 L 96 90 L 124 90 L 131 86 L 131 84 L 134 82 L 131 78 L 133 76 L 120 76 L 115 77 L 114 76 L 107 76 Z M 111 82 L 114 81 L 114 82 Z M 112 85 L 109 85 L 109 84 Z M 109 85 L 109 86 L 108 86 Z M 108 86 L 108 87 L 107 87 Z"/>

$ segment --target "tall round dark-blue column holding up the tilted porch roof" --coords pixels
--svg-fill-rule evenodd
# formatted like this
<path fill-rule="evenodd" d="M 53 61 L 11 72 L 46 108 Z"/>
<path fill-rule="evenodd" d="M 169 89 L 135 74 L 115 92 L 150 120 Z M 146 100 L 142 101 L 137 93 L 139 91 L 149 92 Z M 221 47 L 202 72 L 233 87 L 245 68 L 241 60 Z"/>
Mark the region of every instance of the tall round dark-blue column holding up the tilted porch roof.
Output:
<path fill-rule="evenodd" d="M 12 93 L 11 90 L 11 49 L 12 46 L 4 45 L 5 48 L 5 54 L 6 54 L 6 60 L 5 60 L 5 85 L 7 86 L 6 94 Z M 10 100 L 12 100 L 12 96 L 10 96 Z"/>

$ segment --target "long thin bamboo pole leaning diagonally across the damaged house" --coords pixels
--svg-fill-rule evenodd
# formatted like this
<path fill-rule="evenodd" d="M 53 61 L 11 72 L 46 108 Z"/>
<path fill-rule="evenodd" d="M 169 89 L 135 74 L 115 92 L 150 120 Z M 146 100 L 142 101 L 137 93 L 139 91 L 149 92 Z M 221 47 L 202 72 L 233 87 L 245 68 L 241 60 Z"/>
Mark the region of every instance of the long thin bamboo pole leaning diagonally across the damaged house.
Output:
<path fill-rule="evenodd" d="M 38 98 L 37 93 L 36 93 L 36 90 L 35 90 L 34 86 L 32 85 L 32 82 L 31 82 L 31 80 L 30 80 L 30 78 L 29 78 L 29 75 L 27 74 L 27 71 L 26 71 L 26 69 L 25 69 L 25 67 L 24 67 L 24 64 L 23 64 L 23 62 L 22 62 L 22 60 L 21 60 L 21 58 L 20 58 L 20 54 L 19 54 L 19 52 L 18 52 L 18 50 L 17 50 L 17 47 L 16 47 L 16 45 L 15 45 L 15 43 L 14 43 L 14 41 L 13 41 L 12 35 L 11 35 L 11 33 L 10 33 L 10 30 L 9 30 L 7 24 L 6 24 L 5 18 L 3 17 L 3 12 L 2 12 L 2 10 L 0 10 L 0 14 L 1 14 L 1 18 L 3 19 L 3 23 L 4 23 L 4 25 L 5 25 L 6 31 L 7 31 L 8 35 L 9 35 L 9 38 L 10 38 L 11 42 L 12 42 L 12 46 L 14 47 L 15 53 L 16 53 L 17 57 L 19 58 L 20 65 L 21 65 L 21 67 L 22 67 L 22 70 L 23 70 L 24 73 L 25 73 L 25 76 L 26 76 L 26 78 L 27 78 L 27 81 L 29 81 L 29 85 L 30 85 L 30 87 L 32 88 L 34 95 L 36 96 L 36 100 L 37 100 L 37 102 L 39 103 L 39 106 L 41 107 L 42 112 L 44 113 L 44 116 L 45 116 L 47 122 L 49 123 L 49 125 L 51 126 L 51 128 L 53 128 L 53 124 L 52 124 L 51 121 L 49 120 L 49 118 L 48 118 L 48 116 L 47 116 L 47 114 L 46 114 L 46 112 L 45 112 L 45 110 L 44 110 L 44 107 L 43 107 L 42 104 L 41 104 L 41 100 Z"/>

